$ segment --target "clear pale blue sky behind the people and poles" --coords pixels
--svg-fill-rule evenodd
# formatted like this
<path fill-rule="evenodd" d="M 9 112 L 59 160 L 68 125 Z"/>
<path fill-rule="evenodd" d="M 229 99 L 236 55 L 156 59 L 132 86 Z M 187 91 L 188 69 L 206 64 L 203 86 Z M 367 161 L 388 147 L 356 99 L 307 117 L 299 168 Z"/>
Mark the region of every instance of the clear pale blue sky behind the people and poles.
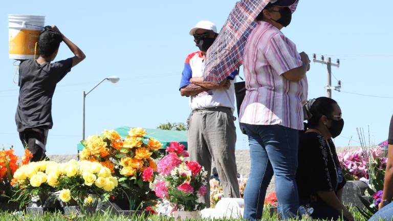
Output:
<path fill-rule="evenodd" d="M 188 31 L 199 20 L 211 20 L 220 29 L 235 2 L 18 1 L 1 7 L 0 146 L 23 151 L 14 122 L 18 86 L 13 83 L 13 60 L 8 59 L 8 14 L 45 15 L 46 25 L 57 25 L 87 56 L 58 84 L 53 98 L 48 154 L 72 154 L 81 139 L 82 91 L 107 76 L 121 80 L 104 82 L 86 98 L 86 136 L 118 126 L 185 122 L 188 100 L 180 97 L 178 87 L 185 57 L 197 51 Z M 385 140 L 393 114 L 392 98 L 349 94 L 393 97 L 393 19 L 390 7 L 383 7 L 390 1 L 380 1 L 377 8 L 354 2 L 301 0 L 292 24 L 282 30 L 299 52 L 341 59 L 341 67 L 333 68 L 333 84 L 335 78 L 341 80 L 343 92 L 333 92 L 333 98 L 341 106 L 345 127 L 336 146 L 358 145 L 356 127 L 368 136 L 368 125 L 372 143 Z M 56 59 L 70 56 L 62 44 Z M 308 79 L 309 98 L 326 95 L 325 66 L 312 63 Z M 247 145 L 247 137 L 238 132 L 236 148 Z"/>

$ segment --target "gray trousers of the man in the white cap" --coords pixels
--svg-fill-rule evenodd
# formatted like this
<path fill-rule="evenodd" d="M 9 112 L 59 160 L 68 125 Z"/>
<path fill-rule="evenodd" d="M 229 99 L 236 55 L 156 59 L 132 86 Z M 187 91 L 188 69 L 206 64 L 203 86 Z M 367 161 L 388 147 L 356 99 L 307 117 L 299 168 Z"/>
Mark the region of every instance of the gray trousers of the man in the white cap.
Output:
<path fill-rule="evenodd" d="M 211 174 L 212 160 L 219 173 L 224 197 L 240 197 L 235 161 L 236 128 L 233 113 L 228 107 L 214 107 L 192 111 L 188 123 L 188 152 Z M 210 207 L 210 185 L 200 199 Z"/>

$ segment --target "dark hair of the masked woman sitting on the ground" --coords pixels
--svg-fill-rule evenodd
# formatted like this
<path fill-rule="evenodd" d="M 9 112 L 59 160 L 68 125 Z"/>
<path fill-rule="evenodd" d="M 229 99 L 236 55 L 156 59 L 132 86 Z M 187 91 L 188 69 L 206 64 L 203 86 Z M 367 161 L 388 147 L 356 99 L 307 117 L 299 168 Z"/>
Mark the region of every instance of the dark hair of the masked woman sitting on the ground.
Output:
<path fill-rule="evenodd" d="M 315 102 L 310 109 L 310 113 L 313 116 L 311 117 L 311 119 L 308 120 L 307 126 L 309 128 L 318 126 L 319 119 L 321 119 L 323 115 L 331 117 L 334 112 L 333 104 L 337 104 L 337 102 L 332 98 L 319 97 L 315 99 Z"/>

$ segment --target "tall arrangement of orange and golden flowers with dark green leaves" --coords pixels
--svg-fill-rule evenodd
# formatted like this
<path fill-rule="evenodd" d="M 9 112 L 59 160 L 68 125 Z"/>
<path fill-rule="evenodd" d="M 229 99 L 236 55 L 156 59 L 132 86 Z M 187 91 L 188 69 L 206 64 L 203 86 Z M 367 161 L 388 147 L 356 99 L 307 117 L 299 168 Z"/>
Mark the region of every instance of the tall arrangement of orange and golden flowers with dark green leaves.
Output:
<path fill-rule="evenodd" d="M 115 130 L 104 130 L 102 136 L 82 141 L 85 148 L 80 159 L 99 162 L 119 178 L 114 201 L 126 210 L 145 209 L 157 203 L 150 184 L 158 174 L 154 160 L 161 157 L 162 144 L 144 139 L 145 135 L 144 129 L 131 128 L 122 139 Z"/>

